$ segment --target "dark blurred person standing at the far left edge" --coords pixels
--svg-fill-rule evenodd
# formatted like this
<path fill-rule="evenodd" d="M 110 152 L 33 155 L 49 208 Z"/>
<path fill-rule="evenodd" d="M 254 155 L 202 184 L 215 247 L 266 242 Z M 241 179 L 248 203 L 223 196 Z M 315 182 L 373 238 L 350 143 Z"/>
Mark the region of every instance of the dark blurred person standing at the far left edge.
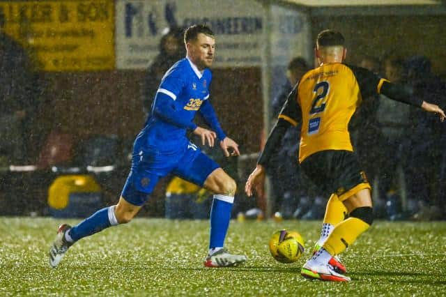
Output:
<path fill-rule="evenodd" d="M 22 45 L 3 32 L 0 13 L 0 164 L 29 162 L 37 104 L 37 75 Z"/>

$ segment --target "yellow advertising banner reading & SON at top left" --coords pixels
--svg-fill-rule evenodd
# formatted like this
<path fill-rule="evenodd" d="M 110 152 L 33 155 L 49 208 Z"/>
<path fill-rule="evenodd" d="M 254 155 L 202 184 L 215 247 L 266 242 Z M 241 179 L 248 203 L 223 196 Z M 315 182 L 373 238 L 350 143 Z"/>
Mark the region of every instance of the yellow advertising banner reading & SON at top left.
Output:
<path fill-rule="evenodd" d="M 113 0 L 1 1 L 0 13 L 40 70 L 114 69 Z"/>

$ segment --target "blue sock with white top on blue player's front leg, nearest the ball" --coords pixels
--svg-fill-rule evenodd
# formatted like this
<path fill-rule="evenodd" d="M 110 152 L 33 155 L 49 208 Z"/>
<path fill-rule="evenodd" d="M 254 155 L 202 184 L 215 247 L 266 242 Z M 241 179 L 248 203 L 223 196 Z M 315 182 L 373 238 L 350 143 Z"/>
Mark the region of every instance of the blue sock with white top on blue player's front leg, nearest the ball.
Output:
<path fill-rule="evenodd" d="M 234 197 L 214 195 L 210 209 L 210 241 L 209 248 L 224 247 L 224 238 L 228 231 L 229 220 Z"/>

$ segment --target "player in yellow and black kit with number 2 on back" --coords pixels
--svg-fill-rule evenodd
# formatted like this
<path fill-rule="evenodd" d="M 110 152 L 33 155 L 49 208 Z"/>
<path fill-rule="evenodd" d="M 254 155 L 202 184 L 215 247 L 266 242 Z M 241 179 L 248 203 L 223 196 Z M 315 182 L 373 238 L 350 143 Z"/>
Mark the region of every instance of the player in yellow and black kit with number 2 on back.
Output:
<path fill-rule="evenodd" d="M 325 30 L 318 34 L 315 53 L 320 66 L 309 70 L 290 93 L 245 185 L 245 192 L 251 196 L 284 131 L 301 121 L 300 166 L 316 185 L 332 192 L 321 238 L 301 274 L 335 282 L 351 280 L 345 275 L 346 269 L 337 254 L 373 222 L 371 187 L 360 169 L 348 132 L 348 123 L 362 98 L 382 93 L 392 100 L 438 114 L 441 121 L 445 119 L 440 107 L 413 96 L 410 87 L 392 84 L 367 69 L 342 63 L 346 58 L 344 42 L 344 36 L 337 31 Z"/>

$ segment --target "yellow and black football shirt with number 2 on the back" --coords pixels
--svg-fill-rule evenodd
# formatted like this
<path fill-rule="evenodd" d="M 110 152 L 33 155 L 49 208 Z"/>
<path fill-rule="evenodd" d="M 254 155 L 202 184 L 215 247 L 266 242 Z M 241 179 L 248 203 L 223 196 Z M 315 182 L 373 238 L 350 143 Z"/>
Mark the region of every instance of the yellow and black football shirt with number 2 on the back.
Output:
<path fill-rule="evenodd" d="M 367 69 L 343 63 L 307 72 L 279 114 L 292 125 L 302 121 L 299 162 L 318 151 L 353 151 L 348 123 L 362 98 L 380 93 L 385 81 Z"/>

